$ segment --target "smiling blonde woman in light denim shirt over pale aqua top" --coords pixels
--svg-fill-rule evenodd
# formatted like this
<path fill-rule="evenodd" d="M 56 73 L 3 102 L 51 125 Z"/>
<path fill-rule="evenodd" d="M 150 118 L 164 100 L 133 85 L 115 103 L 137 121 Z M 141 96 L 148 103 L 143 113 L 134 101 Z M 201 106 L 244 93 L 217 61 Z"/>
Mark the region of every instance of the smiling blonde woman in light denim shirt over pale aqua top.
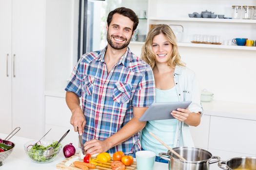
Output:
<path fill-rule="evenodd" d="M 202 107 L 195 73 L 180 61 L 176 37 L 165 24 L 156 25 L 147 35 L 141 58 L 153 69 L 156 82 L 156 102 L 192 101 L 187 109 L 170 114 L 175 119 L 148 121 L 142 131 L 142 150 L 166 153 L 167 149 L 149 132 L 157 135 L 171 148 L 194 146 L 189 126 L 200 123 Z M 168 163 L 156 157 L 156 161 Z"/>

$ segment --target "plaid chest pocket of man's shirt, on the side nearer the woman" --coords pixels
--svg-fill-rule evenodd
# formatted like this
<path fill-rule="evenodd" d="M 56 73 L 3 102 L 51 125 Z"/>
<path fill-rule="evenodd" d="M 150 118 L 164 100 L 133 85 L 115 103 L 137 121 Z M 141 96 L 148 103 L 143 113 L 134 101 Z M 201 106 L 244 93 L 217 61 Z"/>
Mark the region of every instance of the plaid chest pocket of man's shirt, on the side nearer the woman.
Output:
<path fill-rule="evenodd" d="M 132 87 L 128 83 L 117 82 L 113 91 L 113 100 L 118 103 L 128 103 Z"/>

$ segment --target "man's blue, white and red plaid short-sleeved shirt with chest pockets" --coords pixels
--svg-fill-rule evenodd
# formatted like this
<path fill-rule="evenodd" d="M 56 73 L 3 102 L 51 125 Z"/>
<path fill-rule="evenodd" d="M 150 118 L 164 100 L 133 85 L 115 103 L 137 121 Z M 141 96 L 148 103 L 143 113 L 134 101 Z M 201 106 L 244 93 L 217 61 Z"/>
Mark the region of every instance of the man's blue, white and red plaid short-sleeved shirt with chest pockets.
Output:
<path fill-rule="evenodd" d="M 104 140 L 114 135 L 133 118 L 133 107 L 148 107 L 154 101 L 152 69 L 127 48 L 118 63 L 107 72 L 106 48 L 84 54 L 65 88 L 82 100 L 86 119 L 83 140 Z M 141 150 L 139 133 L 108 152 L 125 154 Z"/>

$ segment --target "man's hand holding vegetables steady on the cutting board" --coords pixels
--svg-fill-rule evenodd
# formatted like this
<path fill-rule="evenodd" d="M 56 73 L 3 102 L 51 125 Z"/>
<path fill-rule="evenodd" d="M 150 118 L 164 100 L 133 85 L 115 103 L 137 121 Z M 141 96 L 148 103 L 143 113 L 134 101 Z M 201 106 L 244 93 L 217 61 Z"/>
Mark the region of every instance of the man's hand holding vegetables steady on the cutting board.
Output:
<path fill-rule="evenodd" d="M 108 147 L 107 140 L 90 140 L 85 142 L 84 151 L 86 153 L 95 154 L 95 153 L 104 153 L 107 152 L 110 148 Z"/>

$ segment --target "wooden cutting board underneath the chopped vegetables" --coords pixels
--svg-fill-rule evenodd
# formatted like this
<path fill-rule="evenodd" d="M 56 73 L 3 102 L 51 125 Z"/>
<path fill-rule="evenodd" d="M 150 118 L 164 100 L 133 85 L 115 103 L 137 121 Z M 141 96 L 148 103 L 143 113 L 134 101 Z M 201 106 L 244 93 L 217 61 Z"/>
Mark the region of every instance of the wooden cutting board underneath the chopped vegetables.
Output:
<path fill-rule="evenodd" d="M 75 154 L 74 156 L 79 156 L 79 154 Z M 69 167 L 65 166 L 65 162 L 67 162 L 69 159 L 72 159 L 72 158 L 73 158 L 73 156 L 61 161 L 59 164 L 56 165 L 56 167 L 61 170 L 81 170 L 81 169 L 75 167 L 73 163 Z M 109 162 L 106 162 L 106 163 L 98 162 L 99 165 L 97 165 L 96 168 L 97 168 L 97 170 L 112 170 L 111 162 L 113 162 L 113 160 L 110 160 Z M 92 169 L 89 169 L 89 170 L 92 170 Z M 96 170 L 96 169 L 94 169 L 94 170 Z M 131 166 L 125 167 L 125 170 L 137 170 L 137 162 L 134 162 Z"/>

